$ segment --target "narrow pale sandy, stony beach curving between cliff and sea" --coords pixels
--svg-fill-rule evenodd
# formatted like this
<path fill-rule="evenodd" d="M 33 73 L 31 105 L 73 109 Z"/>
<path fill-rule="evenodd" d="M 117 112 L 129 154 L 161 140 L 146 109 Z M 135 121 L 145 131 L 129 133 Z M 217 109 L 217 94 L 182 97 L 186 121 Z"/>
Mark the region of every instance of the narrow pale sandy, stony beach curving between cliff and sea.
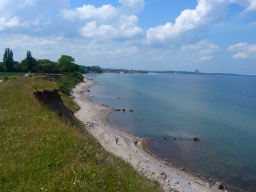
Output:
<path fill-rule="evenodd" d="M 112 109 L 95 104 L 90 101 L 88 96 L 83 95 L 88 88 L 95 84 L 94 81 L 86 79 L 86 77 L 84 77 L 84 81 L 73 90 L 72 95 L 81 107 L 75 115 L 108 152 L 130 163 L 145 177 L 157 180 L 164 191 L 220 191 L 215 186 L 207 187 L 208 184 L 204 180 L 157 160 L 145 152 L 144 149 L 147 146 L 143 145 L 142 139 L 109 124 L 108 115 Z M 116 137 L 119 138 L 118 145 L 115 143 Z M 139 141 L 138 146 L 133 143 L 135 139 Z"/>

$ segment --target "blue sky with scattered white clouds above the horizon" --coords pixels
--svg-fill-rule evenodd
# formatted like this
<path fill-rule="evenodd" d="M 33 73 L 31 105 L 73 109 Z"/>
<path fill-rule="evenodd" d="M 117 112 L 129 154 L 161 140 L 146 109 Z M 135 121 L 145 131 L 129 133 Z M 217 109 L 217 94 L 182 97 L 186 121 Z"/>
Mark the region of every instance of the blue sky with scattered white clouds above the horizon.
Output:
<path fill-rule="evenodd" d="M 0 52 L 256 75 L 256 0 L 0 0 Z"/>

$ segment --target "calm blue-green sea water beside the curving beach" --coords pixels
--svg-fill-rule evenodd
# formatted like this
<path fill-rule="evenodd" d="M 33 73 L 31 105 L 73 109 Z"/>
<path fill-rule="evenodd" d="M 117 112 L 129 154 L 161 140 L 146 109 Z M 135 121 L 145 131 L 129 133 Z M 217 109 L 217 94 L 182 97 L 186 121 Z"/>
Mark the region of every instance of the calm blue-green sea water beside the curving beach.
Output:
<path fill-rule="evenodd" d="M 91 78 L 98 83 L 90 92 L 94 102 L 134 110 L 111 113 L 111 124 L 154 138 L 148 143 L 150 150 L 172 164 L 256 191 L 256 78 L 173 74 Z M 188 140 L 195 136 L 199 142 Z"/>

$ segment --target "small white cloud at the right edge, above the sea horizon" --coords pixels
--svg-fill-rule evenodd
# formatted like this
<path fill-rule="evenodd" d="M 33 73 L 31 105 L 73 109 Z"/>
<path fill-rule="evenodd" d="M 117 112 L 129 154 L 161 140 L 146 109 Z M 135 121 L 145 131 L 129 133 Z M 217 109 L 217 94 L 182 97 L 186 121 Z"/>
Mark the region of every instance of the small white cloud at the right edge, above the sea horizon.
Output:
<path fill-rule="evenodd" d="M 234 59 L 256 59 L 256 44 L 239 43 L 230 45 L 228 51 L 237 52 L 234 54 Z"/>

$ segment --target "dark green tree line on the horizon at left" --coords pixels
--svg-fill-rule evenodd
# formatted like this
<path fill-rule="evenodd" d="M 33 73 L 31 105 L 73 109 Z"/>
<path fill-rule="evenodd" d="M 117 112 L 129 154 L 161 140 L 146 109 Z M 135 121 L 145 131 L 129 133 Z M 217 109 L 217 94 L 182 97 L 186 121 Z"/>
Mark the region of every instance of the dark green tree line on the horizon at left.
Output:
<path fill-rule="evenodd" d="M 62 55 L 58 62 L 51 60 L 36 60 L 33 58 L 31 51 L 27 51 L 26 58 L 22 61 L 13 60 L 13 51 L 6 48 L 3 55 L 3 62 L 0 62 L 0 72 L 40 72 L 63 74 L 72 72 L 95 72 L 102 73 L 99 66 L 82 66 L 77 65 L 72 56 Z"/>

